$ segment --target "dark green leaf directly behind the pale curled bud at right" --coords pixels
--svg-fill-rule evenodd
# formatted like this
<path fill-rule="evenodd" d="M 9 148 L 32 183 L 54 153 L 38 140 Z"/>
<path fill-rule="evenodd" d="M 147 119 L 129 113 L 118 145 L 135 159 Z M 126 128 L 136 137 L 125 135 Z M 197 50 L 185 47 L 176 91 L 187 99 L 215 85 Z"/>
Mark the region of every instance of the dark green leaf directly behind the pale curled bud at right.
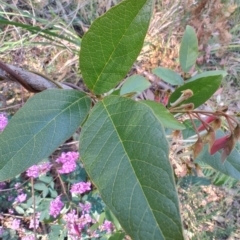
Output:
<path fill-rule="evenodd" d="M 217 75 L 203 77 L 193 82 L 188 82 L 173 92 L 170 96 L 169 104 L 174 103 L 182 95 L 183 90 L 191 89 L 193 91 L 193 96 L 186 101 L 183 101 L 181 104 L 193 103 L 194 107 L 197 108 L 205 103 L 217 91 L 221 81 L 222 75 Z"/>

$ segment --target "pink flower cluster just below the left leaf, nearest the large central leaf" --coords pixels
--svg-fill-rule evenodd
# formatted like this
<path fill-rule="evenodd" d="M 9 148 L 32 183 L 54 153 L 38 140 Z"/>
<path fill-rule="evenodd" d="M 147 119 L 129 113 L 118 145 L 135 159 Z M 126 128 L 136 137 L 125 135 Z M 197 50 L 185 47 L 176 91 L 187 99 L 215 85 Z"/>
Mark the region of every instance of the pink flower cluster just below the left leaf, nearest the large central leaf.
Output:
<path fill-rule="evenodd" d="M 61 167 L 58 169 L 58 173 L 66 174 L 73 172 L 77 167 L 78 158 L 78 152 L 62 153 L 60 157 L 56 159 L 56 162 L 61 165 Z"/>

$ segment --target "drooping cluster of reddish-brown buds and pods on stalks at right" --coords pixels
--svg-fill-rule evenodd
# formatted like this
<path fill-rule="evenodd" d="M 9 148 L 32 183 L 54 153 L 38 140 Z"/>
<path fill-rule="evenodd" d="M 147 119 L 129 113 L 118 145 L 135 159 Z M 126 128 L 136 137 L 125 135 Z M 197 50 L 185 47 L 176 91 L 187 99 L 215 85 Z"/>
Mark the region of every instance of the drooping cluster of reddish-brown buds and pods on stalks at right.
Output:
<path fill-rule="evenodd" d="M 237 140 L 240 138 L 240 124 L 232 116 L 225 113 L 225 108 L 216 112 L 194 110 L 193 103 L 184 102 L 187 99 L 189 100 L 192 96 L 193 92 L 191 89 L 182 91 L 181 96 L 175 102 L 170 103 L 171 107 L 169 111 L 172 113 L 186 113 L 189 116 L 198 136 L 197 141 L 192 146 L 194 159 L 200 154 L 204 144 L 207 143 L 211 155 L 220 150 L 222 151 L 221 159 L 222 162 L 224 162 L 227 156 L 232 152 Z M 203 120 L 200 114 L 205 115 L 206 118 Z M 230 134 L 216 140 L 215 131 L 221 127 L 221 118 L 223 117 L 226 119 Z M 193 118 L 201 121 L 201 125 L 198 128 L 195 126 Z"/>

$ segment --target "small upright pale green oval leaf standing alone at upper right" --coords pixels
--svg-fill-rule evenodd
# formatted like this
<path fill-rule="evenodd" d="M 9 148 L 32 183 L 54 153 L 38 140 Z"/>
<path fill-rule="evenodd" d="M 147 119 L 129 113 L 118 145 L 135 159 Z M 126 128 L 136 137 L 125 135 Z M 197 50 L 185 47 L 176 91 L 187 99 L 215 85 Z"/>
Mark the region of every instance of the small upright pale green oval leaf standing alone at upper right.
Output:
<path fill-rule="evenodd" d="M 179 60 L 181 68 L 184 72 L 188 72 L 195 64 L 198 58 L 198 40 L 195 30 L 191 26 L 187 26 L 184 32 L 180 51 Z"/>

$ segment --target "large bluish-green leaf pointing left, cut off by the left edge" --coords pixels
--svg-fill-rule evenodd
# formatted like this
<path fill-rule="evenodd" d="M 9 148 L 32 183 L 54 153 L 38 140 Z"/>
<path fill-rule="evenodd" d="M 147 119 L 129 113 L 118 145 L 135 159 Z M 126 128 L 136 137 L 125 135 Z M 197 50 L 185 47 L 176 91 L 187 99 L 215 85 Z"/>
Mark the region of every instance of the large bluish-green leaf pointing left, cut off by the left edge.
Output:
<path fill-rule="evenodd" d="M 48 157 L 85 120 L 91 99 L 77 90 L 46 90 L 31 97 L 0 134 L 0 181 Z"/>

